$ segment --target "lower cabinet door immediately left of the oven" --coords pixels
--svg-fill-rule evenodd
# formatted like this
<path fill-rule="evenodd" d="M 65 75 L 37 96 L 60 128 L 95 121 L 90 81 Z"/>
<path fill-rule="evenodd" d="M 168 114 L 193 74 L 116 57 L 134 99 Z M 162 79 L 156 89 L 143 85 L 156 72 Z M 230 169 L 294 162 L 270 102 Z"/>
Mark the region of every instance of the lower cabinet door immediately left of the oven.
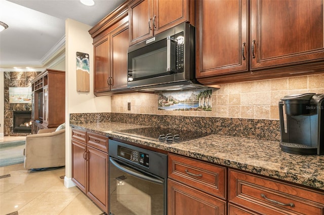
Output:
<path fill-rule="evenodd" d="M 87 195 L 108 213 L 108 153 L 87 147 Z"/>

